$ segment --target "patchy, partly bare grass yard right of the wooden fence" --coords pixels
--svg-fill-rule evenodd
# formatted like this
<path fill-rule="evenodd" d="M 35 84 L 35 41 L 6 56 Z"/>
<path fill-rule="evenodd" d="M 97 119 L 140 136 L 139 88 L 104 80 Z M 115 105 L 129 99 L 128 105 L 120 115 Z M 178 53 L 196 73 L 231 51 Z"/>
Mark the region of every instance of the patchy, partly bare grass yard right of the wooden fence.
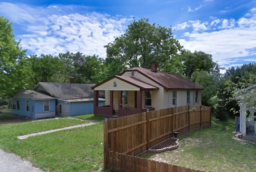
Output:
<path fill-rule="evenodd" d="M 178 136 L 177 150 L 142 157 L 206 172 L 253 172 L 256 142 L 235 140 L 234 130 L 234 119 L 220 122 L 212 118 L 212 128 Z"/>

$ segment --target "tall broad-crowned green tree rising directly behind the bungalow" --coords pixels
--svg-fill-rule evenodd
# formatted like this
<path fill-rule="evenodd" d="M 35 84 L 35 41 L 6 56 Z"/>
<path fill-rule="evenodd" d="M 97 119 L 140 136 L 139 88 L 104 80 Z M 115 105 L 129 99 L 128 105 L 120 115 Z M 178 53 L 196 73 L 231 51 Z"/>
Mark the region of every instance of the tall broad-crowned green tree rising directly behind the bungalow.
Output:
<path fill-rule="evenodd" d="M 162 70 L 172 56 L 178 54 L 182 46 L 174 39 L 171 28 L 150 24 L 148 19 L 144 18 L 134 20 L 125 34 L 110 42 L 105 48 L 107 65 L 115 62 L 116 65 L 120 65 L 118 69 L 150 68 L 152 63 L 157 63 L 158 68 Z"/>

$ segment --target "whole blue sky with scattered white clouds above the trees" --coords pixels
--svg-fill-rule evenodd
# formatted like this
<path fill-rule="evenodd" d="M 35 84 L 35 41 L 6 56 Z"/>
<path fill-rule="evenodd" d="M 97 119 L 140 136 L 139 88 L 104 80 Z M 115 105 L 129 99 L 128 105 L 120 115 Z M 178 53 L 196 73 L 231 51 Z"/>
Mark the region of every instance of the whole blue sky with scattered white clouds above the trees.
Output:
<path fill-rule="evenodd" d="M 28 55 L 106 58 L 104 45 L 134 17 L 171 27 L 185 49 L 212 54 L 222 67 L 256 62 L 255 0 L 0 0 L 0 16 Z"/>

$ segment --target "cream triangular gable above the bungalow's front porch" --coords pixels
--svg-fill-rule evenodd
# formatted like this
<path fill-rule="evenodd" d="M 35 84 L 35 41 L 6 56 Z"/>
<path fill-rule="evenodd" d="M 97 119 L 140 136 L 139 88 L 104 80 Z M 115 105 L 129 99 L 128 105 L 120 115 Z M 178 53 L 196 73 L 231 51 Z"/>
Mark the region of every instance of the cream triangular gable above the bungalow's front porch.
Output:
<path fill-rule="evenodd" d="M 114 82 L 116 83 L 116 87 L 114 87 Z M 122 80 L 119 80 L 117 78 L 113 78 L 112 80 L 109 80 L 108 82 L 105 82 L 104 84 L 101 84 L 100 86 L 94 88 L 94 90 L 134 90 L 138 91 L 140 88 L 133 86 L 131 84 L 128 84 Z"/>

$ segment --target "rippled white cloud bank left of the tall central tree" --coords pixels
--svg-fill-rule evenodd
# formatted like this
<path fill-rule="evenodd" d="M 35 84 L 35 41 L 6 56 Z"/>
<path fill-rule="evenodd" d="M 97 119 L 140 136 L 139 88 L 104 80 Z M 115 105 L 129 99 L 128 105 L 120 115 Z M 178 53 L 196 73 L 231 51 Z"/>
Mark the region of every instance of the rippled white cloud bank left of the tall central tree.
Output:
<path fill-rule="evenodd" d="M 0 3 L 0 10 L 6 6 L 11 10 L 6 11 L 5 16 L 8 14 L 7 18 L 10 21 L 19 23 L 27 32 L 16 35 L 16 38 L 22 39 L 22 48 L 38 55 L 57 55 L 69 51 L 82 52 L 85 55 L 96 54 L 105 58 L 104 45 L 123 34 L 126 24 L 131 20 L 96 12 L 88 12 L 84 15 L 58 12 L 52 14 L 52 9 L 61 10 L 61 6 L 36 9 L 23 4 Z M 14 10 L 18 13 L 12 13 Z M 21 18 L 23 22 L 19 21 Z"/>

